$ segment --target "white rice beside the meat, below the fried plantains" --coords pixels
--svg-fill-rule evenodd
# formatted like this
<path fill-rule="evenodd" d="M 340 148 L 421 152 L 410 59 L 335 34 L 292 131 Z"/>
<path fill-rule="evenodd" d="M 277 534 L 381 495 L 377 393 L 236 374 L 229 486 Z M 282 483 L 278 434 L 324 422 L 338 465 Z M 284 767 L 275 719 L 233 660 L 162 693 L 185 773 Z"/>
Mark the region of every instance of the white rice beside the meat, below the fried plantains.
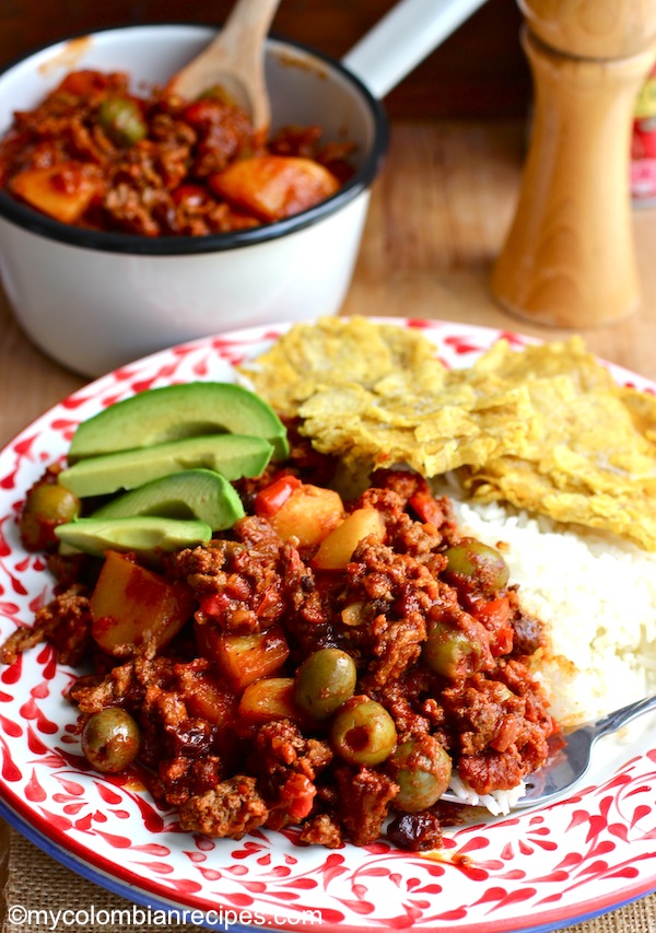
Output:
<path fill-rule="evenodd" d="M 656 555 L 500 504 L 453 501 L 462 528 L 504 543 L 522 605 L 544 623 L 548 649 L 535 669 L 562 726 L 656 689 Z"/>

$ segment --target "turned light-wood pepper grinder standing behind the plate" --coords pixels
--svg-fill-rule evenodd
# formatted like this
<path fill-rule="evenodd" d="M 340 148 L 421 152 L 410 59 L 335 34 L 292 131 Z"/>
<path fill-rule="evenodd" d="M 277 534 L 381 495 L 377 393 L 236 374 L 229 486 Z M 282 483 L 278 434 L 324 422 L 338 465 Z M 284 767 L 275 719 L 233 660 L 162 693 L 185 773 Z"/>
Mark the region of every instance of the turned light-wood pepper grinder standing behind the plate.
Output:
<path fill-rule="evenodd" d="M 640 303 L 630 141 L 656 58 L 656 0 L 518 0 L 535 85 L 519 201 L 492 273 L 509 312 L 558 327 Z"/>

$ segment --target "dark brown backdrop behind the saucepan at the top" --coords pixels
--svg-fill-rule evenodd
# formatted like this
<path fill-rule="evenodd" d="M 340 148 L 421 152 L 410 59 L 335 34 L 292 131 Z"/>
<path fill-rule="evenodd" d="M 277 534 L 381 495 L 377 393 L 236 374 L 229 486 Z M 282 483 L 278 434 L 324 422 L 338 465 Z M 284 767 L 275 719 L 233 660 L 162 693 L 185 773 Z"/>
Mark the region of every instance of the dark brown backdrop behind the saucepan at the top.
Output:
<path fill-rule="evenodd" d="M 394 0 L 282 0 L 271 32 L 341 58 Z M 221 25 L 231 0 L 1 0 L 0 67 L 26 51 L 104 26 L 153 22 Z M 524 117 L 530 77 L 515 0 L 488 0 L 385 103 L 393 119 Z"/>

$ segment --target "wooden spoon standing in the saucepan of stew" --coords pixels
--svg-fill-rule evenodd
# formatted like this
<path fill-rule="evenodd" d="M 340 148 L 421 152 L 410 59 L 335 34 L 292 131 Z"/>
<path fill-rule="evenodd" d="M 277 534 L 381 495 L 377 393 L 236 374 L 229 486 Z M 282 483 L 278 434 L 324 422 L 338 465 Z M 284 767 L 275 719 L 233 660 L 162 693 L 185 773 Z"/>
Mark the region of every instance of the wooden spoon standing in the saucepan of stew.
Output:
<path fill-rule="evenodd" d="M 256 132 L 266 135 L 271 120 L 265 80 L 263 45 L 280 0 L 237 0 L 225 25 L 192 61 L 168 82 L 168 90 L 188 101 L 220 85 L 250 115 Z"/>

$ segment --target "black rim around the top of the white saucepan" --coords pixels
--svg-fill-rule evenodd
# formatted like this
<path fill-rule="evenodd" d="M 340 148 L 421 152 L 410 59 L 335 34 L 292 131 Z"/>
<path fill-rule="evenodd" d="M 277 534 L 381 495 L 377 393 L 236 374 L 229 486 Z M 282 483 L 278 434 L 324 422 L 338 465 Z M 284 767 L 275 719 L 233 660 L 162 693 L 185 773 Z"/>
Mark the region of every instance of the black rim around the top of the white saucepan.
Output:
<path fill-rule="evenodd" d="M 215 26 L 208 26 L 207 23 L 149 23 L 142 26 L 108 26 L 107 28 L 95 30 L 93 35 L 105 32 L 117 32 L 119 30 L 151 27 L 216 28 Z M 85 34 L 69 36 L 60 42 L 70 42 L 74 38 L 80 38 L 82 35 Z M 66 243 L 70 246 L 78 246 L 82 249 L 141 256 L 190 256 L 201 253 L 224 252 L 235 249 L 236 247 L 255 245 L 256 243 L 266 243 L 270 240 L 278 240 L 289 233 L 312 226 L 323 218 L 340 210 L 340 208 L 354 200 L 362 191 L 368 188 L 380 170 L 389 141 L 389 125 L 385 108 L 358 75 L 344 68 L 336 59 L 311 46 L 278 36 L 273 33 L 270 35 L 270 38 L 312 55 L 319 62 L 325 62 L 331 69 L 341 72 L 348 82 L 358 90 L 371 110 L 375 130 L 371 151 L 355 174 L 332 197 L 327 198 L 314 208 L 309 208 L 302 213 L 277 221 L 276 223 L 262 224 L 261 226 L 249 230 L 238 230 L 230 233 L 207 234 L 204 236 L 172 235 L 151 237 L 130 233 L 107 233 L 72 226 L 38 213 L 2 190 L 0 190 L 0 217 L 32 233 L 45 236 L 48 240 L 56 240 L 59 243 Z M 0 69 L 0 80 L 2 79 L 2 74 L 15 68 L 22 61 L 50 46 L 59 45 L 60 42 L 48 43 L 40 48 L 32 49 L 26 55 L 15 58 Z"/>

